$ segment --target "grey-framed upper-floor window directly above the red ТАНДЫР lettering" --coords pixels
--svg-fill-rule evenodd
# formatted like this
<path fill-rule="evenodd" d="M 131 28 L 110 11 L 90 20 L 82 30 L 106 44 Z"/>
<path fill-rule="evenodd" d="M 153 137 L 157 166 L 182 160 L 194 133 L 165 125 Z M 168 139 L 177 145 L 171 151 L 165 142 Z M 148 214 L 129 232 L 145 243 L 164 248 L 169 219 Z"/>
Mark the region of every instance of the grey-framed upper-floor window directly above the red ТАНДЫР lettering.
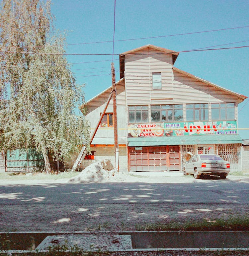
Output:
<path fill-rule="evenodd" d="M 148 123 L 147 106 L 128 106 L 129 123 Z"/>

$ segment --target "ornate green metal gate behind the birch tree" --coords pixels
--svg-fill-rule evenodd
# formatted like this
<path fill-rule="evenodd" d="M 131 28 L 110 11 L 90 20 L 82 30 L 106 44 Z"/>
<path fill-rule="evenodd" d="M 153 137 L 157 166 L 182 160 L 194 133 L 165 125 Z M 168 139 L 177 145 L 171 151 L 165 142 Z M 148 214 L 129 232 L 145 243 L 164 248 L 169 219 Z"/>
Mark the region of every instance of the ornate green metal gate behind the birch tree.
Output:
<path fill-rule="evenodd" d="M 35 148 L 7 150 L 7 172 L 30 172 L 44 166 L 41 153 Z"/>

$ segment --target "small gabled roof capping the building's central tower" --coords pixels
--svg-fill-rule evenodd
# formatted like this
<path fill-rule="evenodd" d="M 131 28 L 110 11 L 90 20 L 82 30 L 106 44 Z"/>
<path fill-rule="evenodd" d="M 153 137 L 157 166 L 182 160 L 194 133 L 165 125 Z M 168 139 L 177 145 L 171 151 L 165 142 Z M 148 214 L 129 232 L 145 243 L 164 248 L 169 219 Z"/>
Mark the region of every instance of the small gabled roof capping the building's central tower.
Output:
<path fill-rule="evenodd" d="M 133 50 L 125 51 L 125 52 L 123 52 L 119 55 L 120 78 L 124 77 L 124 56 L 128 55 L 128 54 L 135 54 L 136 51 L 143 50 L 143 49 L 146 49 L 146 48 L 151 48 L 151 49 L 154 49 L 154 50 L 158 50 L 162 53 L 172 54 L 172 64 L 173 65 L 176 61 L 177 56 L 179 55 L 179 52 L 177 52 L 177 51 L 172 51 L 172 50 L 162 48 L 162 47 L 158 47 L 158 46 L 155 46 L 155 45 L 152 45 L 152 44 L 147 44 L 147 45 L 135 48 Z"/>

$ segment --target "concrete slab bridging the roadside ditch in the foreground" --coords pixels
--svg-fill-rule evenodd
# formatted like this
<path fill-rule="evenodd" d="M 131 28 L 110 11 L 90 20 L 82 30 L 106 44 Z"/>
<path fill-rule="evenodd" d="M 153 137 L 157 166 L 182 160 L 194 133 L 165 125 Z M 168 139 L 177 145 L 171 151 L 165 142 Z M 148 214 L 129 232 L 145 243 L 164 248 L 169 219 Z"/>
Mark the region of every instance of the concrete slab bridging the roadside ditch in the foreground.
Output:
<path fill-rule="evenodd" d="M 132 249 L 130 235 L 109 234 L 64 234 L 49 235 L 37 247 L 46 250 L 50 246 L 67 245 L 68 249 L 77 245 L 85 251 L 122 251 Z"/>

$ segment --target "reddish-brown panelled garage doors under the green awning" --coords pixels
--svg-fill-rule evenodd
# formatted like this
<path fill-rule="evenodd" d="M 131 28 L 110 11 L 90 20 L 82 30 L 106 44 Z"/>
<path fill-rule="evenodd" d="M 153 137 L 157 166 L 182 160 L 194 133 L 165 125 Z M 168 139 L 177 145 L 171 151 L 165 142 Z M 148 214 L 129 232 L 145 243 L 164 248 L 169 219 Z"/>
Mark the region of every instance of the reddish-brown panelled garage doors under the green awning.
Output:
<path fill-rule="evenodd" d="M 128 148 L 129 171 L 179 171 L 179 146 Z"/>

